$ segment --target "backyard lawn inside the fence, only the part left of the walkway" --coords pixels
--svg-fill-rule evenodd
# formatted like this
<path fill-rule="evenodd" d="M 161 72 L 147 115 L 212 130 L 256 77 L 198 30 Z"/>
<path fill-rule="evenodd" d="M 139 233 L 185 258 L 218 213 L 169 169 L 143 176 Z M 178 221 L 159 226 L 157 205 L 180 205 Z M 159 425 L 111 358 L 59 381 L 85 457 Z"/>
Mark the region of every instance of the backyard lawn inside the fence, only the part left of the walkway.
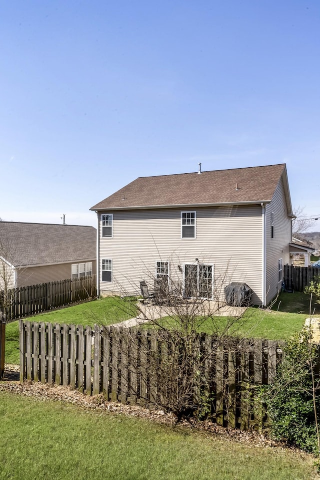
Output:
<path fill-rule="evenodd" d="M 135 317 L 136 305 L 131 298 L 106 297 L 73 305 L 52 312 L 41 313 L 27 320 L 46 323 L 86 325 L 111 325 Z M 135 299 L 134 299 L 135 300 Z M 5 363 L 19 363 L 19 322 L 5 326 Z"/>

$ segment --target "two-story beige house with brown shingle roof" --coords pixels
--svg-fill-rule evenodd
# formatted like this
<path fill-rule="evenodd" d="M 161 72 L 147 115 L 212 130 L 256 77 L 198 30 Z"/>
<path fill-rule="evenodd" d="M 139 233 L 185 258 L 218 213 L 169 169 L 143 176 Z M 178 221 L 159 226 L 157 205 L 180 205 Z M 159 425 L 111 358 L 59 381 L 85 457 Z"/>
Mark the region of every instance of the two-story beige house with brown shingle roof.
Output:
<path fill-rule="evenodd" d="M 139 177 L 91 210 L 100 295 L 136 294 L 153 276 L 213 299 L 245 282 L 253 303 L 267 305 L 290 262 L 285 164 Z"/>

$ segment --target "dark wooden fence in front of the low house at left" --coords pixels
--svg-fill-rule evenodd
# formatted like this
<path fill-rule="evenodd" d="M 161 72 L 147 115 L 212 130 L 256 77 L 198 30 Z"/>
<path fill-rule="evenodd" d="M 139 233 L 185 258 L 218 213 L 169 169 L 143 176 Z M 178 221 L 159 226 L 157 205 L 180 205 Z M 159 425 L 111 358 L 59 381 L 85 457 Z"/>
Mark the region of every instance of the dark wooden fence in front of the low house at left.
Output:
<path fill-rule="evenodd" d="M 7 319 L 28 317 L 96 296 L 96 275 L 0 291 Z"/>

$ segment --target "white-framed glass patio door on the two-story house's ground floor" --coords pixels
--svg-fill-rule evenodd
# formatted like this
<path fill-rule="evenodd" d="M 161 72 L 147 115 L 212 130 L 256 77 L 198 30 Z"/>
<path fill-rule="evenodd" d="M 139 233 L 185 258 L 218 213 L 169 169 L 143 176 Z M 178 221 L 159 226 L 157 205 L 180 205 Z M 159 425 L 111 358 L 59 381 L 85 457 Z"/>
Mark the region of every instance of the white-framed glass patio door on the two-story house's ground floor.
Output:
<path fill-rule="evenodd" d="M 213 265 L 184 264 L 184 296 L 212 298 Z"/>

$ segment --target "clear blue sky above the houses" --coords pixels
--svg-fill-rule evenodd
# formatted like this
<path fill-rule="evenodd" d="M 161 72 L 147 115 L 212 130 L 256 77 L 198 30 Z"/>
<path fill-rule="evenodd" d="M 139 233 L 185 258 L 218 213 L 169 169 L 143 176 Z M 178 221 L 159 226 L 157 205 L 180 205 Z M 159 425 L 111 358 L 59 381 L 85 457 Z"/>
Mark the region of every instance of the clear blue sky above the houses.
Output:
<path fill-rule="evenodd" d="M 319 59 L 318 0 L 0 0 L 0 217 L 95 226 L 198 162 L 286 163 L 320 217 Z"/>

